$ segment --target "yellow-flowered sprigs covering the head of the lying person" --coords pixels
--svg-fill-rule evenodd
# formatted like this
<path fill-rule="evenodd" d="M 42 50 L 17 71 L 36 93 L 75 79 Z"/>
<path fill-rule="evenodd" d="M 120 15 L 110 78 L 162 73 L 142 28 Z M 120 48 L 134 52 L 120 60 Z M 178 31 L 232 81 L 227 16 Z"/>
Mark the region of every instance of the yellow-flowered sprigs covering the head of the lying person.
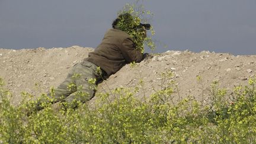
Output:
<path fill-rule="evenodd" d="M 129 14 L 129 15 L 127 15 Z M 136 1 L 134 4 L 126 4 L 123 9 L 118 12 L 119 23 L 117 27 L 120 30 L 126 31 L 130 37 L 133 38 L 133 41 L 136 44 L 136 49 L 140 52 L 144 52 L 144 46 L 149 47 L 151 50 L 155 50 L 156 46 L 152 40 L 152 36 L 155 34 L 153 27 L 148 30 L 151 33 L 151 36 L 146 36 L 146 30 L 140 26 L 140 23 L 149 23 L 149 20 L 152 18 L 153 13 L 144 8 L 143 4 L 140 4 L 140 1 Z"/>

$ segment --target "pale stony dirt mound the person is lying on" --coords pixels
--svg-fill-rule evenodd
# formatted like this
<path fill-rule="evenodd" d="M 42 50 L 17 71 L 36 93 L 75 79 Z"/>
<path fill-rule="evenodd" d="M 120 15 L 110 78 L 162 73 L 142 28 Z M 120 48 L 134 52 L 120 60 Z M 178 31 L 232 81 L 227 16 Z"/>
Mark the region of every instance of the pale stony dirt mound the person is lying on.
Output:
<path fill-rule="evenodd" d="M 50 87 L 57 87 L 72 66 L 87 57 L 92 50 L 79 46 L 0 49 L 0 76 L 5 80 L 5 87 L 14 94 L 13 102 L 17 104 L 21 100 L 22 91 L 39 95 L 47 92 Z M 150 95 L 161 89 L 165 80 L 161 73 L 168 71 L 173 73 L 171 80 L 175 81 L 174 85 L 179 89 L 176 94 L 181 97 L 203 97 L 213 81 L 218 81 L 220 87 L 228 90 L 236 85 L 247 85 L 246 80 L 256 75 L 256 56 L 233 56 L 206 51 L 167 51 L 154 54 L 136 66 L 124 66 L 101 83 L 97 92 L 117 87 L 140 87 L 142 90 L 136 95 Z M 201 82 L 197 81 L 197 76 L 201 77 Z M 143 81 L 143 85 L 138 85 L 140 81 Z"/>

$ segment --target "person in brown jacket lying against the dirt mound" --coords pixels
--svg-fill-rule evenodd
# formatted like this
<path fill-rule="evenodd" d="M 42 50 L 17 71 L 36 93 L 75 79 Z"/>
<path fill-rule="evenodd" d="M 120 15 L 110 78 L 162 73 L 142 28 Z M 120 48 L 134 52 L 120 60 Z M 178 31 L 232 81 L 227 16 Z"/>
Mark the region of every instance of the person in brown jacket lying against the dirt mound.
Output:
<path fill-rule="evenodd" d="M 120 21 L 121 23 L 130 23 L 130 18 L 132 15 L 126 13 L 119 15 L 113 21 L 113 28 L 107 30 L 101 44 L 94 52 L 90 52 L 81 63 L 73 66 L 65 81 L 55 89 L 52 103 L 65 101 L 75 108 L 76 102 L 84 103 L 94 97 L 95 87 L 89 82 L 90 80 L 94 79 L 95 81 L 92 82 L 97 85 L 127 63 L 140 62 L 145 57 L 145 54 L 143 55 L 140 50 L 136 49 L 136 43 L 132 37 L 117 26 Z M 146 26 L 150 27 L 149 24 Z M 145 27 L 141 28 L 145 31 L 146 37 Z M 50 97 L 50 94 L 47 96 Z M 37 110 L 42 108 L 41 102 L 39 102 Z"/>

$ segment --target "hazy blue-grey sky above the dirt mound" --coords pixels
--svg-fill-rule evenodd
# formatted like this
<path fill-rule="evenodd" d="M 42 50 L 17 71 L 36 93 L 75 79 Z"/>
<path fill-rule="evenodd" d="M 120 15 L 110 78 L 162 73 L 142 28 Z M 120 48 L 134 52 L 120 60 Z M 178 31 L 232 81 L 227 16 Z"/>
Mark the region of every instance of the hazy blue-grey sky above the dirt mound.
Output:
<path fill-rule="evenodd" d="M 97 47 L 125 0 L 0 0 L 0 47 Z M 256 55 L 255 0 L 145 0 L 156 52 Z M 147 50 L 148 51 L 148 50 Z"/>

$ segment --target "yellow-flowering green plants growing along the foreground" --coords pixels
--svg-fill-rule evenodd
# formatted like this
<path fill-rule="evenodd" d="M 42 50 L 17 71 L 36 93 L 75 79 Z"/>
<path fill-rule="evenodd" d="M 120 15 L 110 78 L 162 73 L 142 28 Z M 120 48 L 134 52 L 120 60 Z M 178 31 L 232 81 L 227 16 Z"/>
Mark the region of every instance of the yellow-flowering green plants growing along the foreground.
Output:
<path fill-rule="evenodd" d="M 135 97 L 139 89 L 117 88 L 97 95 L 94 107 L 79 103 L 56 110 L 50 103 L 27 116 L 35 101 L 10 103 L 0 79 L 0 143 L 255 143 L 256 80 L 236 87 L 232 101 L 225 89 L 212 85 L 212 101 L 193 97 L 174 102 L 171 73 L 162 75 L 161 90 L 150 98 Z M 24 93 L 25 97 L 30 97 Z"/>

